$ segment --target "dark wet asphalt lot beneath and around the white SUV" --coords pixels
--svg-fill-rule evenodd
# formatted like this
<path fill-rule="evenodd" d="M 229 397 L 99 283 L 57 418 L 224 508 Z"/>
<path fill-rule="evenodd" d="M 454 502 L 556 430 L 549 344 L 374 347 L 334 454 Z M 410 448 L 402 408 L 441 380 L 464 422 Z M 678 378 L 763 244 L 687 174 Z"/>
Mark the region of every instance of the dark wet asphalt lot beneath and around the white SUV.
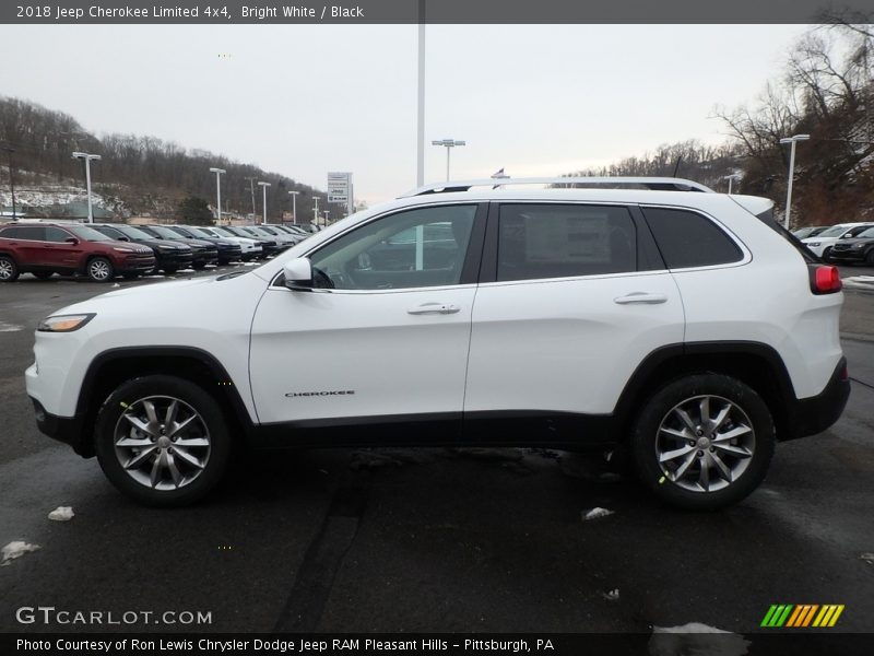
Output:
<path fill-rule="evenodd" d="M 831 631 L 874 631 L 874 294 L 847 294 L 843 417 L 779 445 L 723 512 L 664 507 L 569 454 L 436 448 L 244 456 L 205 503 L 156 511 L 40 435 L 24 394 L 39 318 L 108 286 L 0 286 L 0 546 L 39 546 L 0 567 L 0 631 L 69 631 L 16 620 L 50 606 L 154 613 L 76 631 L 749 633 L 772 604 L 841 604 Z M 612 514 L 583 520 L 595 507 Z"/>

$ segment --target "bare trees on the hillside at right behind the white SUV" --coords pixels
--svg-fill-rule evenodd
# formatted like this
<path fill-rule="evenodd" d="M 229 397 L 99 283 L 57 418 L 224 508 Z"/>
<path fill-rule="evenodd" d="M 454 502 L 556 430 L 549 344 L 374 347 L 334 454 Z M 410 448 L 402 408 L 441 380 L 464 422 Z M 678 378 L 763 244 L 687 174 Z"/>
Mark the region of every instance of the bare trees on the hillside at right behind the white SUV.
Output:
<path fill-rule="evenodd" d="M 716 107 L 728 142 L 665 144 L 653 153 L 572 175 L 678 176 L 771 198 L 786 209 L 789 147 L 799 142 L 795 225 L 874 220 L 874 30 L 867 16 L 830 12 L 792 47 L 783 71 L 752 103 Z"/>

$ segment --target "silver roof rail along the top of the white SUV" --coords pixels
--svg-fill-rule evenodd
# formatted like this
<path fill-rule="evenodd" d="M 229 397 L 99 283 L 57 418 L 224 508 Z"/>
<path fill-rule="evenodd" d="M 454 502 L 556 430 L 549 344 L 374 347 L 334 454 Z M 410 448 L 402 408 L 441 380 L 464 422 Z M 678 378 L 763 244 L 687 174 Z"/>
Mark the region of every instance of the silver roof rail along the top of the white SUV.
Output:
<path fill-rule="evenodd" d="M 450 194 L 453 191 L 470 191 L 471 187 L 492 187 L 498 188 L 506 185 L 567 185 L 577 188 L 577 185 L 586 187 L 633 187 L 640 186 L 646 189 L 658 191 L 705 191 L 713 194 L 710 187 L 700 183 L 683 178 L 671 177 L 543 177 L 543 178 L 488 178 L 479 180 L 460 180 L 434 183 L 418 187 L 399 198 L 411 196 L 424 196 L 426 194 Z"/>

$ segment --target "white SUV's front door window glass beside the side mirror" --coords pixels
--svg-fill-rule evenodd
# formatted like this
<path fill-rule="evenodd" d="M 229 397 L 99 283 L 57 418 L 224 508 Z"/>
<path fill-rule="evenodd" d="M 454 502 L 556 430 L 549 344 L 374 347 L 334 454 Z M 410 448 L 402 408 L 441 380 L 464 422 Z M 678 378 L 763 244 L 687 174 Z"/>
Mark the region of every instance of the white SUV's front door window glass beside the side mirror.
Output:
<path fill-rule="evenodd" d="M 458 284 L 475 204 L 406 210 L 331 242 L 310 261 L 338 290 Z"/>

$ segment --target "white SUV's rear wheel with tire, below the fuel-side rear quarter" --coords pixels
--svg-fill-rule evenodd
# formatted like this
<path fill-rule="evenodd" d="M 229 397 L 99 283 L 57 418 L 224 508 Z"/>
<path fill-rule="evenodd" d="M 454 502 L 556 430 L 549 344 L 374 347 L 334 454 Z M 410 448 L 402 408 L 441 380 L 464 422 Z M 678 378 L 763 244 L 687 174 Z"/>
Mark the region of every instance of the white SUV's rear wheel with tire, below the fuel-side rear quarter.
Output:
<path fill-rule="evenodd" d="M 761 397 L 720 374 L 669 383 L 645 403 L 631 454 L 645 485 L 671 505 L 712 511 L 765 479 L 776 436 Z"/>

